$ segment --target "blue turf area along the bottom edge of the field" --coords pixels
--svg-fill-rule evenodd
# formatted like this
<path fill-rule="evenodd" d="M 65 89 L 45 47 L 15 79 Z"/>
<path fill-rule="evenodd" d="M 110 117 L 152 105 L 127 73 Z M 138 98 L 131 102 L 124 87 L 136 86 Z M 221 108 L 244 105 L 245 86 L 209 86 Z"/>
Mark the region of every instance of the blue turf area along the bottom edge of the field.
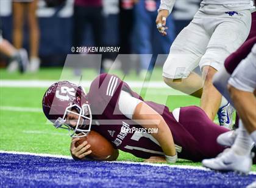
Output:
<path fill-rule="evenodd" d="M 256 175 L 0 153 L 0 187 L 246 187 Z"/>

